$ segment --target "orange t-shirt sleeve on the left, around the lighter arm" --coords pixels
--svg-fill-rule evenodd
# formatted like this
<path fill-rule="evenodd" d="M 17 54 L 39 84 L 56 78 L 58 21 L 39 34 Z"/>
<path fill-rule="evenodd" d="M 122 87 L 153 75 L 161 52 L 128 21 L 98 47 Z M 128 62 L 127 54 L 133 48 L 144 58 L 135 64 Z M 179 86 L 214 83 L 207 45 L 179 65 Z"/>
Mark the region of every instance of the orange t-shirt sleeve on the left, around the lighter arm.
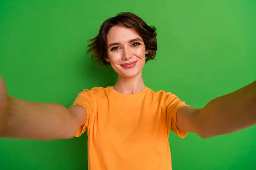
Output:
<path fill-rule="evenodd" d="M 93 113 L 93 101 L 91 97 L 91 92 L 87 89 L 84 89 L 81 93 L 79 93 L 73 102 L 73 105 L 81 105 L 87 111 L 87 119 L 83 126 L 79 127 L 78 131 L 76 132 L 76 137 L 81 136 L 89 127 L 90 119 Z M 71 106 L 73 106 L 71 105 Z"/>

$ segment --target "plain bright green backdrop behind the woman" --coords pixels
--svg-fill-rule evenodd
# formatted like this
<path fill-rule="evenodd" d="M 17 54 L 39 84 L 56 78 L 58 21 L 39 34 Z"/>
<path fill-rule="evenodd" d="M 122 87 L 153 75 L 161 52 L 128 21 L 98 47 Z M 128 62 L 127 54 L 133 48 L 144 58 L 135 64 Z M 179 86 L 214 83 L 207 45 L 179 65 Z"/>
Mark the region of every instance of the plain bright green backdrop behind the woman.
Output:
<path fill-rule="evenodd" d="M 203 107 L 256 79 L 255 0 L 1 0 L 0 74 L 8 93 L 69 107 L 84 88 L 113 85 L 112 68 L 86 55 L 87 40 L 122 11 L 157 27 L 157 59 L 143 72 L 153 90 Z M 171 133 L 173 169 L 253 170 L 255 132 L 250 127 L 210 139 Z M 86 170 L 87 135 L 46 142 L 0 139 L 0 169 Z"/>

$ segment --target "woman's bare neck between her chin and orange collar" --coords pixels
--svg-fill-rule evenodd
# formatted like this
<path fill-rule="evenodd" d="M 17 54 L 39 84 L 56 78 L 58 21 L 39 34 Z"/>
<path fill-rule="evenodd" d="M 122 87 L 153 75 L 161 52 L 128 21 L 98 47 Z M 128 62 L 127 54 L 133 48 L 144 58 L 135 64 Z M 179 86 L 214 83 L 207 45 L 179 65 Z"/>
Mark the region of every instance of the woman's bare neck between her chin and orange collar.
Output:
<path fill-rule="evenodd" d="M 135 94 L 145 88 L 142 78 L 142 72 L 135 77 L 125 78 L 118 75 L 116 84 L 113 88 L 122 94 Z"/>

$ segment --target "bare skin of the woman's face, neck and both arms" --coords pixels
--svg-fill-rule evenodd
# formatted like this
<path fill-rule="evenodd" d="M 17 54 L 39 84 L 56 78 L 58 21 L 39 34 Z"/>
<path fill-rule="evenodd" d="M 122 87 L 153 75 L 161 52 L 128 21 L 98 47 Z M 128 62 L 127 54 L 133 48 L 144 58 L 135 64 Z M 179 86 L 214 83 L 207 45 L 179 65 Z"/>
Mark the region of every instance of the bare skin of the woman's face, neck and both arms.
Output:
<path fill-rule="evenodd" d="M 142 37 L 131 28 L 113 26 L 107 35 L 107 47 L 108 57 L 105 60 L 118 74 L 113 88 L 122 94 L 143 90 L 142 70 L 148 51 Z M 165 77 L 168 78 L 168 75 Z M 65 108 L 56 103 L 28 102 L 9 96 L 0 77 L 2 138 L 70 139 L 86 119 L 86 109 L 80 105 Z M 197 133 L 202 138 L 233 133 L 256 125 L 256 82 L 212 99 L 203 108 L 180 108 L 176 121 L 178 128 Z"/>

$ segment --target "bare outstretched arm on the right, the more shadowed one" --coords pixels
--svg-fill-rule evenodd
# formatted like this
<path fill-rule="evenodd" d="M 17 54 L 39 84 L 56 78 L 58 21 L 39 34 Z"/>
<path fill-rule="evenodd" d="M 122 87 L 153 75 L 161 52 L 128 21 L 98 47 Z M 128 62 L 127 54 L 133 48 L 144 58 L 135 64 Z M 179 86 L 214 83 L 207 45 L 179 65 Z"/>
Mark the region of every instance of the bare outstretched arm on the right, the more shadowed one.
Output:
<path fill-rule="evenodd" d="M 233 133 L 256 125 L 256 81 L 212 99 L 204 108 L 177 111 L 177 127 L 202 138 Z"/>

